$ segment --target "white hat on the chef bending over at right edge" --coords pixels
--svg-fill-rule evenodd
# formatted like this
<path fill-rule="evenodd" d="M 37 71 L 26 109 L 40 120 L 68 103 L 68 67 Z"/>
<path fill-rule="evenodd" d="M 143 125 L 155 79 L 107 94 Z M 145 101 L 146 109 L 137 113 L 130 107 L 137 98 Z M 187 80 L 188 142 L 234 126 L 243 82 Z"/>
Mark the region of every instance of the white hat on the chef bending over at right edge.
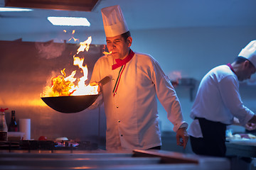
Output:
<path fill-rule="evenodd" d="M 245 57 L 247 60 L 252 62 L 252 64 L 256 67 L 256 40 L 252 40 L 248 45 L 246 45 L 238 57 Z"/>

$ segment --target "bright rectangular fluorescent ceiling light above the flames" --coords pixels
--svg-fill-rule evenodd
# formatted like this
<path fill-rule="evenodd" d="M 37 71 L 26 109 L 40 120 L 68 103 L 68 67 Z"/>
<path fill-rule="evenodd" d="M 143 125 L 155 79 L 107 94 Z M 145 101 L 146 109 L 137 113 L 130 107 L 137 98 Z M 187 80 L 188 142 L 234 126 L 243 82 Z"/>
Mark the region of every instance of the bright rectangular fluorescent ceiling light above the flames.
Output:
<path fill-rule="evenodd" d="M 54 26 L 90 26 L 87 18 L 82 17 L 55 17 L 48 16 L 48 21 Z"/>

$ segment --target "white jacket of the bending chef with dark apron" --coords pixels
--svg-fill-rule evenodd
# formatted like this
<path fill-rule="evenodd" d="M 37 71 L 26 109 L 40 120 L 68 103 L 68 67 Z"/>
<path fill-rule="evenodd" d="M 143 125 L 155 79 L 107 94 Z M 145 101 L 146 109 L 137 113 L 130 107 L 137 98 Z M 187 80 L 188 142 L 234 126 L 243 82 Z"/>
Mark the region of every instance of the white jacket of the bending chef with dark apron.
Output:
<path fill-rule="evenodd" d="M 191 110 L 191 118 L 206 118 L 215 122 L 230 125 L 236 117 L 245 125 L 254 115 L 243 105 L 239 94 L 238 77 L 228 67 L 215 67 L 203 77 Z M 188 135 L 203 137 L 197 119 L 188 128 Z"/>

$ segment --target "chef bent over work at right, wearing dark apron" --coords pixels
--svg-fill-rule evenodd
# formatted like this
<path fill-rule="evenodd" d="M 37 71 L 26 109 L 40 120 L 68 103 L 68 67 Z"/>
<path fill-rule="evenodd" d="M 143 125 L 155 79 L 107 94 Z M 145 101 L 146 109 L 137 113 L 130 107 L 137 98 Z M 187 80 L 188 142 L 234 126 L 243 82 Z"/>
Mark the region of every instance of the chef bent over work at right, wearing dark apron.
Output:
<path fill-rule="evenodd" d="M 255 66 L 256 40 L 253 40 L 232 64 L 215 67 L 203 77 L 191 110 L 193 122 L 188 129 L 193 152 L 225 157 L 227 125 L 239 123 L 248 130 L 255 129 L 255 113 L 244 106 L 239 94 L 239 81 L 250 79 L 256 72 Z"/>

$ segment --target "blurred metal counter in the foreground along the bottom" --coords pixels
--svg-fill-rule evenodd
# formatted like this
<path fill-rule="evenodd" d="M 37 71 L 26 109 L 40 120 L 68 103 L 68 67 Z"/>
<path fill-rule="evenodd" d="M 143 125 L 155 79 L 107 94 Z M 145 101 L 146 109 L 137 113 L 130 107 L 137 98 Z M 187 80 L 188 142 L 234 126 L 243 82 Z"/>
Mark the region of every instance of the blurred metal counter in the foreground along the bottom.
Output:
<path fill-rule="evenodd" d="M 0 151 L 0 169 L 230 169 L 225 158 L 199 157 L 163 150 Z"/>

